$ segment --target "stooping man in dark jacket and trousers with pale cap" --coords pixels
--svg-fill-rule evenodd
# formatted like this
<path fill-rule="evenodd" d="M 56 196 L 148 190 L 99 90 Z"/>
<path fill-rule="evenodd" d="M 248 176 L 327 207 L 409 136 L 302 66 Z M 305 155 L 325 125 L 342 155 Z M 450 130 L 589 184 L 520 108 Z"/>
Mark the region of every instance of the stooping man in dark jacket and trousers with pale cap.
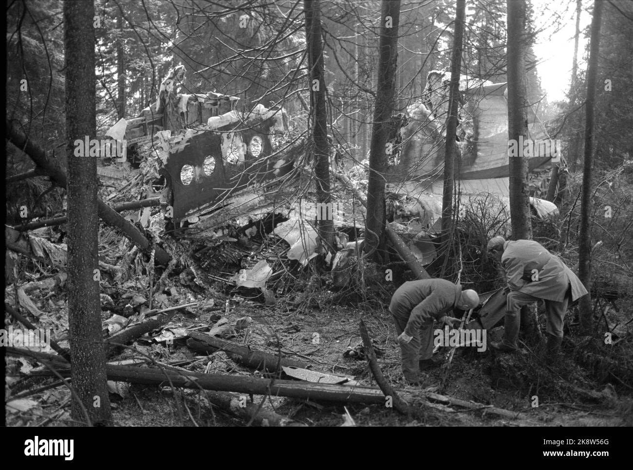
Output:
<path fill-rule="evenodd" d="M 433 322 L 451 325 L 460 319 L 446 316 L 447 312 L 478 305 L 477 292 L 462 291 L 461 286 L 444 279 L 405 282 L 394 292 L 389 311 L 396 323 L 402 372 L 408 383 L 418 383 L 420 366 L 428 366 L 433 356 Z"/>

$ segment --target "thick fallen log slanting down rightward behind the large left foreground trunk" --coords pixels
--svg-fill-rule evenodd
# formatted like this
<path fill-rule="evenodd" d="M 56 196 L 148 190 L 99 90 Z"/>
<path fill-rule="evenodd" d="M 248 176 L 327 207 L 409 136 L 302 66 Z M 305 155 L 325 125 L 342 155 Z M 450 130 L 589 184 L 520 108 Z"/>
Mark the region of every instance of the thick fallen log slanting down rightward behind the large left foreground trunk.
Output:
<path fill-rule="evenodd" d="M 27 154 L 41 171 L 49 175 L 51 182 L 63 188 L 68 187 L 68 178 L 66 178 L 66 172 L 61 168 L 60 163 L 54 158 L 49 158 L 42 147 L 39 147 L 39 145 L 36 145 L 32 140 L 28 139 L 20 129 L 8 120 L 6 120 L 6 139 Z M 123 235 L 140 249 L 146 252 L 155 249 L 154 258 L 159 264 L 166 266 L 166 264 L 169 263 L 171 258 L 169 254 L 161 247 L 149 242 L 130 221 L 125 220 L 125 218 L 116 213 L 112 207 L 101 201 L 101 199 L 97 199 L 97 207 L 99 217 L 104 223 L 121 230 Z"/>

